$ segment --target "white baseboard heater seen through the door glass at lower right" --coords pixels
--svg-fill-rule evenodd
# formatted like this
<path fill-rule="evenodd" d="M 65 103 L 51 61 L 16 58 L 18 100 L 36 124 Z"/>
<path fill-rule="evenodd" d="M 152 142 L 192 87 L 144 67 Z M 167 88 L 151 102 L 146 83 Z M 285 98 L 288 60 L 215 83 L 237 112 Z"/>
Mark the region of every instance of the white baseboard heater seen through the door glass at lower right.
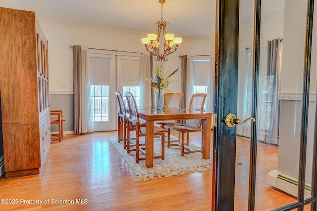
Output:
<path fill-rule="evenodd" d="M 266 183 L 292 196 L 297 197 L 298 179 L 294 177 L 281 173 L 275 169 L 266 174 Z M 308 198 L 311 196 L 311 187 L 312 186 L 310 183 L 305 182 L 304 198 Z"/>

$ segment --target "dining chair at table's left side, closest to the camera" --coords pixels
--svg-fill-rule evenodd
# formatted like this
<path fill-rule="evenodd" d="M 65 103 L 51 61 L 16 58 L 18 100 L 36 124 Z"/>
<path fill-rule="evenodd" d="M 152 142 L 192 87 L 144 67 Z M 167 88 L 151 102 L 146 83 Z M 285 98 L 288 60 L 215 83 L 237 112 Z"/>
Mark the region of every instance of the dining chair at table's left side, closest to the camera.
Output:
<path fill-rule="evenodd" d="M 128 102 L 129 107 L 129 113 L 130 115 L 127 116 L 127 148 L 129 147 L 130 142 L 133 142 L 133 140 L 130 140 L 130 131 L 135 131 L 135 151 L 136 151 L 136 163 L 139 163 L 140 160 L 145 160 L 145 157 L 140 157 L 140 152 L 145 155 L 145 142 L 140 143 L 140 137 L 145 137 L 146 135 L 146 127 L 141 127 L 140 124 L 140 118 L 139 118 L 139 112 L 138 107 L 135 102 L 135 98 L 131 92 L 124 92 L 124 95 Z M 154 159 L 161 158 L 164 160 L 164 140 L 165 140 L 165 132 L 167 132 L 166 129 L 161 127 L 154 126 L 154 135 L 161 137 L 161 154 L 153 156 Z M 141 147 L 140 147 L 141 146 Z"/>

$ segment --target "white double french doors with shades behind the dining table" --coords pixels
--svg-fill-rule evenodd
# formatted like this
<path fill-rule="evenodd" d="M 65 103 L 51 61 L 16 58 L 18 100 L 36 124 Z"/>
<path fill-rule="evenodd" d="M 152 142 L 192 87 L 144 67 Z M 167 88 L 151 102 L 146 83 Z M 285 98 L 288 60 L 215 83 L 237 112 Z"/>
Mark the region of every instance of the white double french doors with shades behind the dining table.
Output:
<path fill-rule="evenodd" d="M 138 99 L 140 93 L 141 57 L 137 53 L 89 49 L 89 65 L 94 131 L 110 131 L 117 128 L 117 99 L 115 91 L 131 91 Z"/>

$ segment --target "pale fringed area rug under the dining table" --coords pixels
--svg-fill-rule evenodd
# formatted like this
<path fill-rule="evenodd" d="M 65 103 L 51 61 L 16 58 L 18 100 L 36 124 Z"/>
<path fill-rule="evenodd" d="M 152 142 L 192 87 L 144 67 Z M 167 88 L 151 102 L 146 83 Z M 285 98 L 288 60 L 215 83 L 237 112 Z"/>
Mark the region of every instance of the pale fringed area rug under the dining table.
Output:
<path fill-rule="evenodd" d="M 141 137 L 144 138 L 144 137 Z M 181 156 L 180 147 L 171 146 L 167 148 L 165 145 L 165 158 L 154 159 L 153 168 L 147 168 L 145 161 L 135 162 L 135 152 L 128 154 L 123 148 L 123 143 L 118 143 L 117 136 L 108 138 L 110 143 L 119 152 L 124 161 L 129 165 L 133 172 L 137 175 L 135 181 L 146 181 L 149 179 L 170 177 L 174 175 L 182 175 L 194 172 L 203 172 L 212 169 L 212 152 L 210 159 L 202 158 L 202 153 L 190 153 Z M 171 140 L 177 140 L 176 137 L 171 136 Z M 144 139 L 143 139 L 144 141 Z M 140 140 L 142 142 L 142 140 Z M 190 148 L 195 149 L 198 146 L 190 144 Z M 160 138 L 154 139 L 154 155 L 160 154 Z"/>

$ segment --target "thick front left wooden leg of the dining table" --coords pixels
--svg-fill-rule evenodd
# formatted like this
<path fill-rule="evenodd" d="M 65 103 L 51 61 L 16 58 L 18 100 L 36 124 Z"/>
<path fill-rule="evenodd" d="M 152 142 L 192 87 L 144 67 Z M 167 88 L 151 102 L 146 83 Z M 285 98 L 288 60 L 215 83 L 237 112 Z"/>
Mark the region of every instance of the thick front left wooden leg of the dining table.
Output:
<path fill-rule="evenodd" d="M 145 166 L 147 168 L 153 167 L 153 151 L 154 151 L 154 122 L 146 122 L 145 134 Z"/>

